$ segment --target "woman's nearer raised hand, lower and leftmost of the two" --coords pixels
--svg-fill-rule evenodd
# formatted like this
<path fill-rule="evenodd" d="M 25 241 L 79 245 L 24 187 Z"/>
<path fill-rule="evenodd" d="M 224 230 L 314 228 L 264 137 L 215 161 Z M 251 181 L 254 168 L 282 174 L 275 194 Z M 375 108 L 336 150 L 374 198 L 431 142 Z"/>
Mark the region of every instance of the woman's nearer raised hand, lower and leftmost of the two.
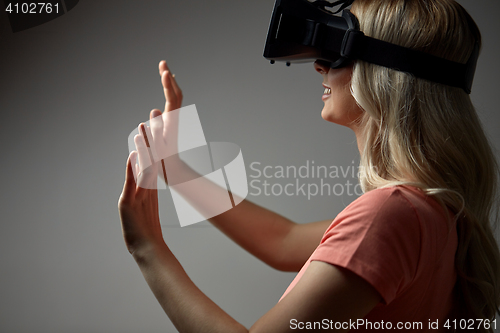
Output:
<path fill-rule="evenodd" d="M 144 133 L 145 126 L 139 125 L 139 130 Z M 158 164 L 151 165 L 149 162 L 144 136 L 137 135 L 134 140 L 137 152 L 133 151 L 127 160 L 125 185 L 118 200 L 118 209 L 127 249 L 132 255 L 140 256 L 145 251 L 165 245 L 165 242 L 158 215 Z M 137 159 L 139 165 L 136 164 Z"/>

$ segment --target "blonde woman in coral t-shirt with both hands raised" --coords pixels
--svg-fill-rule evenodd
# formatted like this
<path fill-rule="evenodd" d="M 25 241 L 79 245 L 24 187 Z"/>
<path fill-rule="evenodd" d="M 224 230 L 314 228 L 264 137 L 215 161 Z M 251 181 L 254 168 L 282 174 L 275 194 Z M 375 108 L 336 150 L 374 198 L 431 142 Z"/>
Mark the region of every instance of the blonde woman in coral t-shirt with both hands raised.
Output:
<path fill-rule="evenodd" d="M 461 63 L 480 42 L 453 0 L 356 0 L 351 12 L 368 36 Z M 492 332 L 500 304 L 490 228 L 498 169 L 469 95 L 362 61 L 314 67 L 325 87 L 322 117 L 356 135 L 365 194 L 333 223 L 295 224 L 248 201 L 210 220 L 272 267 L 300 270 L 250 332 Z M 165 62 L 160 75 L 165 111 L 179 108 L 182 93 Z M 160 114 L 153 110 L 151 118 Z M 168 249 L 157 193 L 134 181 L 135 156 L 119 201 L 122 228 L 163 309 L 180 332 L 248 331 L 191 282 Z M 138 182 L 148 177 L 154 174 Z"/>

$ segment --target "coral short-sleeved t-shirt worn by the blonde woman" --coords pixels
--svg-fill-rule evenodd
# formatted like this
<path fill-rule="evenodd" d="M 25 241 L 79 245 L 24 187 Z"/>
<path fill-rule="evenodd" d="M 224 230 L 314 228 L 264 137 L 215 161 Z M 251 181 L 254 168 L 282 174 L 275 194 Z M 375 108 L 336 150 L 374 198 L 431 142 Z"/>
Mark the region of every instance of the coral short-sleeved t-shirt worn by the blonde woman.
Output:
<path fill-rule="evenodd" d="M 423 332 L 439 320 L 442 330 L 456 281 L 457 232 L 450 217 L 448 210 L 417 188 L 372 190 L 335 218 L 282 298 L 311 261 L 323 261 L 349 269 L 382 296 L 366 321 L 379 326 L 382 320 L 391 322 L 392 329 L 398 323 L 421 322 L 422 327 L 414 330 Z M 364 330 L 376 329 L 369 328 Z"/>

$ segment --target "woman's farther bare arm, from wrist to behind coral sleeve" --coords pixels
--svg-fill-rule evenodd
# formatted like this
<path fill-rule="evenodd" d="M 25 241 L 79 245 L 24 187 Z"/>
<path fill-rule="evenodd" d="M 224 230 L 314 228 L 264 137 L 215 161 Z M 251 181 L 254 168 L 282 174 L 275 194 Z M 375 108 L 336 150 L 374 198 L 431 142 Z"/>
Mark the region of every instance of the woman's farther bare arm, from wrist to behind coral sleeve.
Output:
<path fill-rule="evenodd" d="M 275 269 L 300 270 L 331 223 L 331 220 L 326 220 L 297 224 L 248 200 L 219 214 L 214 211 L 214 207 L 219 201 L 228 200 L 227 190 L 201 177 L 179 160 L 174 165 L 171 169 L 175 171 L 177 181 L 188 183 L 196 179 L 194 186 L 183 183 L 181 187 L 174 185 L 174 189 L 215 227 Z"/>

